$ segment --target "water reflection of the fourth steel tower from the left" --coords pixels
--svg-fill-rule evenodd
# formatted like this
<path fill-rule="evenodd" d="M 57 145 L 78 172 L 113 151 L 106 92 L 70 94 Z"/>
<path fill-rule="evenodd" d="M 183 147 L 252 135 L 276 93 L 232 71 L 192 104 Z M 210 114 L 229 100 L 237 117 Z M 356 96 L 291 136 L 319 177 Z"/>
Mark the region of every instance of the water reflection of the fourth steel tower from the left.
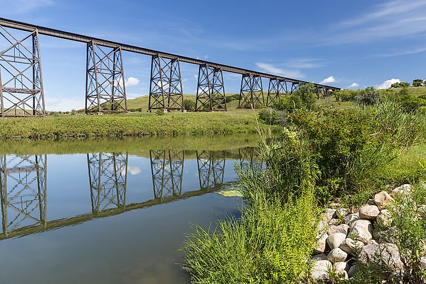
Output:
<path fill-rule="evenodd" d="M 223 184 L 226 151 L 197 151 L 200 189 L 215 188 Z"/>

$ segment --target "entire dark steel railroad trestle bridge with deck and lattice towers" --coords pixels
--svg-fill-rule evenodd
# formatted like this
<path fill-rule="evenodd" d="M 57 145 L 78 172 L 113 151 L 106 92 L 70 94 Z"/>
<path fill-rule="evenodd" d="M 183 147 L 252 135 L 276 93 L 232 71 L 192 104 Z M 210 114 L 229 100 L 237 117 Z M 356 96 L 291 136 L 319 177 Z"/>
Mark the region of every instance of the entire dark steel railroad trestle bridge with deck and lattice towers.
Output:
<path fill-rule="evenodd" d="M 28 32 L 17 38 L 13 30 Z M 307 81 L 208 62 L 86 35 L 0 18 L 0 40 L 9 46 L 0 51 L 0 117 L 44 117 L 43 76 L 39 35 L 87 44 L 86 113 L 127 112 L 123 51 L 151 56 L 148 110 L 185 111 L 180 63 L 199 66 L 196 111 L 227 110 L 223 72 L 241 75 L 238 107 L 270 106 L 281 95 L 291 94 Z M 269 79 L 267 97 L 262 78 Z M 339 88 L 314 84 L 313 92 L 329 96 Z M 266 90 L 265 90 L 266 91 Z"/>

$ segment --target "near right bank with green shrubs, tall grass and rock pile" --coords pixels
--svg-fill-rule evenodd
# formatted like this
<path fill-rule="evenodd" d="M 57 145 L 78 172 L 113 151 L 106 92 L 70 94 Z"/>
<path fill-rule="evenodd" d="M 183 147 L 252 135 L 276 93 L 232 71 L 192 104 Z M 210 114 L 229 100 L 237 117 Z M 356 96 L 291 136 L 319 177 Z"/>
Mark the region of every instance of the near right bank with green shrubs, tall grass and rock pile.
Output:
<path fill-rule="evenodd" d="M 426 281 L 424 101 L 406 88 L 337 97 L 316 104 L 301 87 L 259 113 L 284 130 L 261 134 L 263 166 L 237 166 L 241 216 L 187 236 L 194 283 Z"/>

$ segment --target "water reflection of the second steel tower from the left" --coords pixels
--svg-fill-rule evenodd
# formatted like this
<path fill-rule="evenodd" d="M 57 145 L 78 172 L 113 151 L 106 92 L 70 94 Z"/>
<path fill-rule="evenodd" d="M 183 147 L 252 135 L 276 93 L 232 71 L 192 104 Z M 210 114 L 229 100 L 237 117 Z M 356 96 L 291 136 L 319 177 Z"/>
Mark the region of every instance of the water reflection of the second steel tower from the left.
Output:
<path fill-rule="evenodd" d="M 87 154 L 92 213 L 126 208 L 128 153 Z"/>

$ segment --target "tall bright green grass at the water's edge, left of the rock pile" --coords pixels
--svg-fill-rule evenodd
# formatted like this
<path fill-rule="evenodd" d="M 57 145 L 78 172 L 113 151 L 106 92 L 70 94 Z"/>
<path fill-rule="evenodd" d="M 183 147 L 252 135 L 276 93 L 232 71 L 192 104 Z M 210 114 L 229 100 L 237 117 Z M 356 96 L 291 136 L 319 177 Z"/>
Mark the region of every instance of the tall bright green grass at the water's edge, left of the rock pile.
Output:
<path fill-rule="evenodd" d="M 239 172 L 247 202 L 241 217 L 219 220 L 214 230 L 194 226 L 182 248 L 194 283 L 294 283 L 308 275 L 318 208 L 308 153 L 296 145 L 263 139 L 265 172 Z"/>

